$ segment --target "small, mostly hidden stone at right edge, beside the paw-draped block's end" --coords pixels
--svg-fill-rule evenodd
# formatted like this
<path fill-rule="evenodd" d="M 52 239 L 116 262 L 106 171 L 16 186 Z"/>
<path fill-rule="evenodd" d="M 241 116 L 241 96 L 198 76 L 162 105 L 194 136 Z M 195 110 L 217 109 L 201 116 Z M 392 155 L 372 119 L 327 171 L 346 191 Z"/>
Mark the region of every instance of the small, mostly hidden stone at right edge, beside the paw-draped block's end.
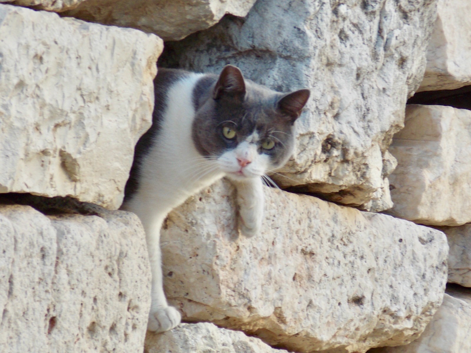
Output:
<path fill-rule="evenodd" d="M 448 282 L 471 287 L 471 224 L 459 227 L 440 227 L 447 234 Z"/>

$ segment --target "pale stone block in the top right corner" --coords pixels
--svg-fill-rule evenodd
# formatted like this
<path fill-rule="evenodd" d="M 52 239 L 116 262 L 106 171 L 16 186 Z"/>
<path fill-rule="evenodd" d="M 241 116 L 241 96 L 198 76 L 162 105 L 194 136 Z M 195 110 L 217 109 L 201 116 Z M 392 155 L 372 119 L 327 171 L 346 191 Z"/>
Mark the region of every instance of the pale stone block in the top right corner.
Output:
<path fill-rule="evenodd" d="M 419 92 L 471 84 L 471 2 L 439 0 L 437 12 Z"/>

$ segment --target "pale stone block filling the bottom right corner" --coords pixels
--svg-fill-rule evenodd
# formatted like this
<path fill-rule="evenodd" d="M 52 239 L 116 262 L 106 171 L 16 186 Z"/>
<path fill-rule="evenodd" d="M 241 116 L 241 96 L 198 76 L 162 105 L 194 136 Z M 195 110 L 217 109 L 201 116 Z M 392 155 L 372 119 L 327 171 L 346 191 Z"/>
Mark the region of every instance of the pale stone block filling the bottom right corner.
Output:
<path fill-rule="evenodd" d="M 421 337 L 409 345 L 384 347 L 371 353 L 465 353 L 471 352 L 471 292 L 445 294 L 433 320 Z"/>

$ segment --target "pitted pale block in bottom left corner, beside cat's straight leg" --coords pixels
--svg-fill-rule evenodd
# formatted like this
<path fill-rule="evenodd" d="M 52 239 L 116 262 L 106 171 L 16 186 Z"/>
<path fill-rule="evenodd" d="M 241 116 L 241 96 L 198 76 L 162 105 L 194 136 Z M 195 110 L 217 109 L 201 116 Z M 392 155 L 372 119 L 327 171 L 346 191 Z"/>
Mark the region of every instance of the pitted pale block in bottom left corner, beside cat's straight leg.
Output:
<path fill-rule="evenodd" d="M 128 212 L 44 216 L 0 205 L 2 353 L 140 353 L 150 306 L 145 235 Z"/>

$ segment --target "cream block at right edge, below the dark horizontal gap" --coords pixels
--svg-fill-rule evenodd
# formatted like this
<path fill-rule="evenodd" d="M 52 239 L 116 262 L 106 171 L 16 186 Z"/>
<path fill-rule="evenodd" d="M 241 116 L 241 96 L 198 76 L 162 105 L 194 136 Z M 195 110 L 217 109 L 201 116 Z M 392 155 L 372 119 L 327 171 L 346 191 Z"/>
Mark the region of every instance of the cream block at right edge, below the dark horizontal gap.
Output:
<path fill-rule="evenodd" d="M 471 111 L 407 105 L 406 127 L 390 152 L 394 207 L 389 214 L 427 225 L 471 222 Z"/>

